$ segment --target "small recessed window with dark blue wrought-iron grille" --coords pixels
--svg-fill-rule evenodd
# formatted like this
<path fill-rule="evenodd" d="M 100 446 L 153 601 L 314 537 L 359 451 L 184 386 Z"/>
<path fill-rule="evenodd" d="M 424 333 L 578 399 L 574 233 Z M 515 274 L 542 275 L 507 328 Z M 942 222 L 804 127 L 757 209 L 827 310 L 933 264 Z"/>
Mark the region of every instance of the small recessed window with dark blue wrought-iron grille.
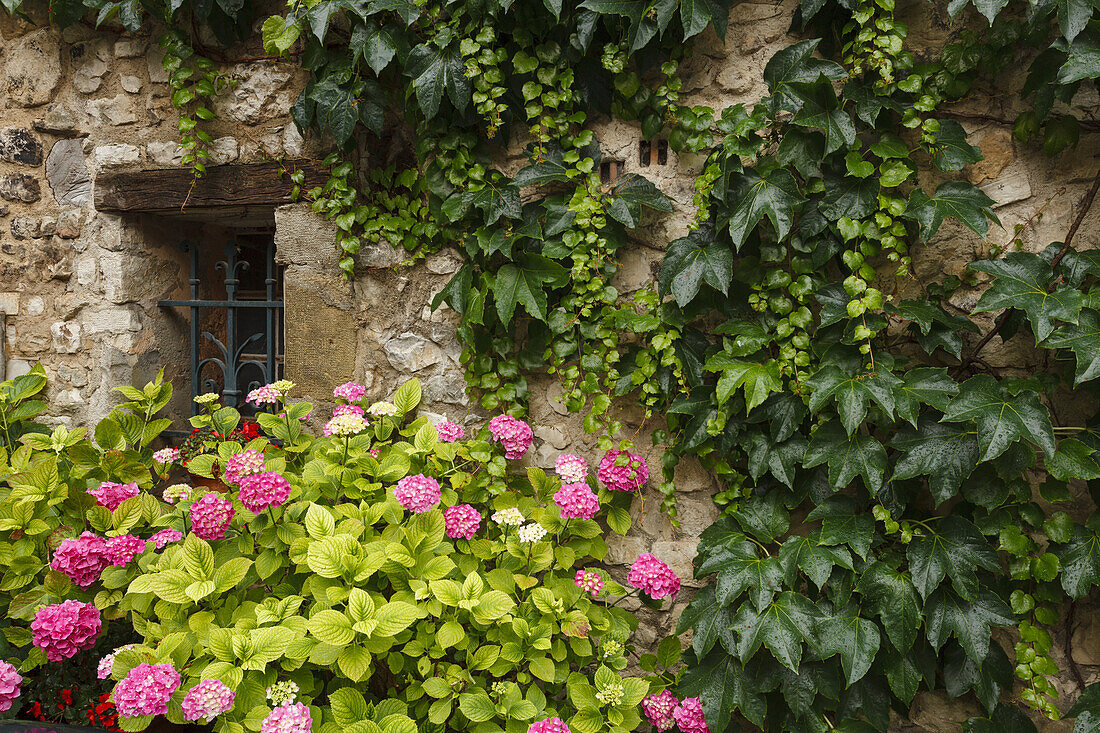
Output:
<path fill-rule="evenodd" d="M 283 272 L 275 264 L 274 232 L 233 231 L 212 266 L 215 248 L 190 241 L 183 247 L 190 297 L 160 306 L 188 309 L 191 397 L 217 392 L 222 404 L 252 414 L 248 393 L 283 376 Z"/>

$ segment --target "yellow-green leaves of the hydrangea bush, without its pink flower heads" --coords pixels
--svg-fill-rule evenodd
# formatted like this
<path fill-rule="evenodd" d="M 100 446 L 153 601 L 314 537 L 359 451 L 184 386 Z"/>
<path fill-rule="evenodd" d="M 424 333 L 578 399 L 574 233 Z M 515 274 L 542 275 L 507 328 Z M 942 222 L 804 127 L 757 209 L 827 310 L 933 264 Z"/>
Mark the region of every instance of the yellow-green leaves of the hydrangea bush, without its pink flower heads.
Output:
<path fill-rule="evenodd" d="M 0 385 L 0 394 L 30 414 L 23 406 L 44 385 L 36 369 Z M 245 444 L 232 440 L 235 409 L 200 400 L 204 413 L 191 423 L 222 437 L 190 459 L 189 470 L 210 457 L 204 470 L 221 477 L 232 456 L 256 450 L 265 469 L 290 484 L 288 500 L 258 513 L 231 485 L 234 515 L 217 539 L 193 532 L 201 490 L 175 504 L 157 497 L 172 468 L 147 449 L 163 429 L 153 415 L 172 394 L 160 378 L 143 390 L 119 387 L 130 402 L 100 423 L 95 444 L 82 429 L 51 435 L 25 418 L 9 422 L 23 445 L 0 449 L 0 566 L 13 593 L 4 637 L 25 649 L 23 671 L 47 664 L 31 646 L 35 610 L 78 599 L 139 633 L 135 646 L 117 650 L 113 679 L 141 663 L 180 671 L 167 712 L 175 723 L 185 722 L 186 691 L 219 679 L 235 699 L 215 730 L 232 733 L 260 730 L 274 704 L 265 690 L 279 682 L 297 686 L 322 732 L 526 730 L 549 716 L 592 733 L 638 727 L 642 698 L 672 680 L 664 670 L 676 664 L 679 642 L 661 645 L 647 665 L 650 677 L 622 675 L 638 619 L 618 604 L 635 592 L 608 580 L 590 594 L 574 581 L 607 551 L 600 522 L 629 528 L 628 494 L 600 489 L 596 518 L 562 518 L 551 499 L 560 481 L 537 469 L 507 473 L 487 429 L 440 441 L 416 416 L 416 381 L 370 426 L 327 438 L 302 431 L 299 418 L 312 405 L 288 404 L 292 386 L 273 385 L 278 404 L 258 416 L 263 434 Z M 406 512 L 394 484 L 411 475 L 438 478 L 441 504 Z M 102 480 L 133 480 L 141 493 L 110 512 L 86 493 Z M 458 504 L 482 515 L 473 538 L 448 535 L 443 508 Z M 527 529 L 541 526 L 544 536 L 525 539 L 517 526 L 491 518 L 501 510 L 521 513 Z M 79 588 L 46 564 L 56 543 L 84 526 L 143 539 L 170 528 L 183 539 L 163 548 L 147 541 L 131 561 Z M 123 716 L 120 724 L 143 730 L 151 721 Z"/>

